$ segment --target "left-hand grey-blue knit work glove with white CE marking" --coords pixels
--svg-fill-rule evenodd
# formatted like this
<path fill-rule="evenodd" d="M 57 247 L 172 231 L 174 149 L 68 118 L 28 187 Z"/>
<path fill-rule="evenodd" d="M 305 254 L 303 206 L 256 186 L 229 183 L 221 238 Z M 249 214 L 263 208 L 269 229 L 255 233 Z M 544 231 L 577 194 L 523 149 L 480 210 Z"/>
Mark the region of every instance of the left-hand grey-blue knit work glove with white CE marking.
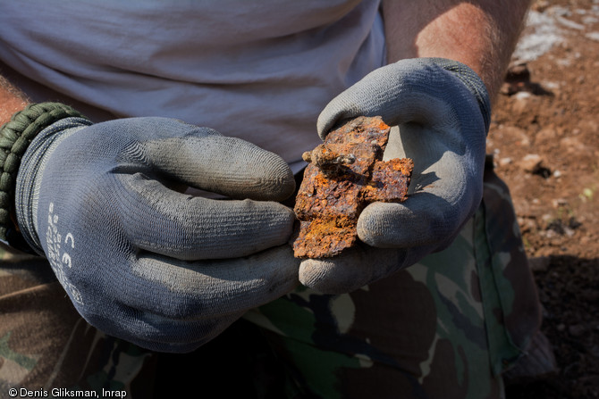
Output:
<path fill-rule="evenodd" d="M 233 198 L 184 195 L 177 182 Z M 90 324 L 186 352 L 291 291 L 299 262 L 277 155 L 165 118 L 57 121 L 17 177 L 21 231 Z"/>

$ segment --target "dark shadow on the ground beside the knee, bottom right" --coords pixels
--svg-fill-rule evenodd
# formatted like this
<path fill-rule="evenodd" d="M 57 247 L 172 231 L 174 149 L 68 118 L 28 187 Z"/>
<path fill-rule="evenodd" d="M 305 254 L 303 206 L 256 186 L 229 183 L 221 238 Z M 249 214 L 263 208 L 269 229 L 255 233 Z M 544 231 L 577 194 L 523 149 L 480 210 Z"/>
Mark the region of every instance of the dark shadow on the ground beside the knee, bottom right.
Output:
<path fill-rule="evenodd" d="M 599 259 L 548 256 L 531 262 L 544 334 L 560 368 L 544 381 L 508 387 L 508 399 L 599 397 Z"/>

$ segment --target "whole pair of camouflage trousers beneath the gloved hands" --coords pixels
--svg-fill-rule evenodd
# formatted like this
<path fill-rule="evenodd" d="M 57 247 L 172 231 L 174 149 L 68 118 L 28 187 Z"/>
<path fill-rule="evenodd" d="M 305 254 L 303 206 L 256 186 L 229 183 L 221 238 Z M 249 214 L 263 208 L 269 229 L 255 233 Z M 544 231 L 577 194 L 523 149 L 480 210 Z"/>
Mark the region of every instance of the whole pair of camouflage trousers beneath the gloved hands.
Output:
<path fill-rule="evenodd" d="M 75 312 L 43 259 L 5 253 L 0 398 L 14 387 L 49 397 L 66 388 L 98 397 L 501 398 L 502 371 L 539 325 L 509 192 L 487 170 L 483 204 L 443 252 L 350 294 L 299 287 L 194 353 L 105 336 Z"/>

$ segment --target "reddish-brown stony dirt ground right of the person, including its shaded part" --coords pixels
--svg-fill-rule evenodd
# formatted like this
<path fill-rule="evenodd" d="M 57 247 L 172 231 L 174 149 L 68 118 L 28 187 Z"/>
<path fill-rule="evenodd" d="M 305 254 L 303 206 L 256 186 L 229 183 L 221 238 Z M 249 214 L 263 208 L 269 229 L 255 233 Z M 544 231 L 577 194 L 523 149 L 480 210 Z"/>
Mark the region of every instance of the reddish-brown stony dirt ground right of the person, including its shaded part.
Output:
<path fill-rule="evenodd" d="M 508 398 L 596 398 L 599 0 L 536 1 L 510 71 L 487 150 L 510 186 L 559 370 Z"/>

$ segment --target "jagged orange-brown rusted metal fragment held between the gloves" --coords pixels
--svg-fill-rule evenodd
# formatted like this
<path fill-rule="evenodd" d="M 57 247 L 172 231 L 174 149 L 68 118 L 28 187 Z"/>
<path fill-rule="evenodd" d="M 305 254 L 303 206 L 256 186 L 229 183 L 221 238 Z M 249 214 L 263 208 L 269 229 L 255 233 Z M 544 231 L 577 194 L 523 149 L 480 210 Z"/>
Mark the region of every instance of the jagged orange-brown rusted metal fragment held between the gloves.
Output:
<path fill-rule="evenodd" d="M 358 117 L 303 155 L 310 163 L 294 207 L 299 219 L 296 257 L 340 254 L 356 244 L 359 213 L 367 204 L 406 199 L 414 163 L 409 158 L 382 160 L 389 131 L 380 117 Z"/>

